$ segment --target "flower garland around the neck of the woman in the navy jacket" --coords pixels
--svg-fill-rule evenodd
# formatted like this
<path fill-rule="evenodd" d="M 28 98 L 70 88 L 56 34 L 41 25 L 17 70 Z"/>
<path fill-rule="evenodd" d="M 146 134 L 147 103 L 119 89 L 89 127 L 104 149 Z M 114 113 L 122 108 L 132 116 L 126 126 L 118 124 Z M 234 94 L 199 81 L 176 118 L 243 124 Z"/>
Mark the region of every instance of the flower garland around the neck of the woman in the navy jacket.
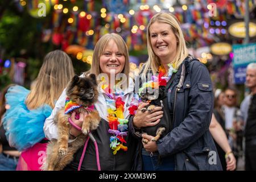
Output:
<path fill-rule="evenodd" d="M 139 103 L 141 102 L 141 98 L 139 98 L 141 96 L 141 92 L 142 90 L 144 90 L 145 88 L 151 87 L 152 89 L 158 89 L 159 86 L 166 86 L 167 82 L 170 80 L 170 78 L 172 77 L 173 73 L 177 72 L 176 69 L 176 64 L 174 63 L 170 63 L 168 64 L 168 75 L 167 77 L 165 77 L 166 75 L 166 69 L 164 69 L 163 65 L 161 64 L 158 67 L 158 76 L 153 75 L 150 81 L 144 82 L 142 87 L 139 88 L 139 94 L 134 94 L 134 97 L 129 105 L 129 113 L 131 115 L 135 115 L 139 106 Z"/>

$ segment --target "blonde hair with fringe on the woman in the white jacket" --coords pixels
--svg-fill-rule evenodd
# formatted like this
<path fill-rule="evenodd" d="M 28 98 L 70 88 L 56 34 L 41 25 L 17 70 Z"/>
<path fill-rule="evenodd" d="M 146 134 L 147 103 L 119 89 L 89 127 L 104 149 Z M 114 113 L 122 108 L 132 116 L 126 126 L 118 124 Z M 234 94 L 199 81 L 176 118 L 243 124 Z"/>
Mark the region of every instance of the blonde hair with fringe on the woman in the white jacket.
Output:
<path fill-rule="evenodd" d="M 94 73 L 96 76 L 98 76 L 100 72 L 100 57 L 103 55 L 106 47 L 108 46 L 110 40 L 114 40 L 115 44 L 117 44 L 117 47 L 122 55 L 125 56 L 125 66 L 123 67 L 122 73 L 126 75 L 127 78 L 129 78 L 129 72 L 130 72 L 130 64 L 129 64 L 129 52 L 128 48 L 126 46 L 125 41 L 123 38 L 118 34 L 105 34 L 98 40 L 96 43 L 96 46 L 93 51 L 93 60 L 92 60 L 92 67 L 90 68 L 90 71 L 88 73 Z M 127 79 L 127 84 L 129 84 L 129 79 Z"/>

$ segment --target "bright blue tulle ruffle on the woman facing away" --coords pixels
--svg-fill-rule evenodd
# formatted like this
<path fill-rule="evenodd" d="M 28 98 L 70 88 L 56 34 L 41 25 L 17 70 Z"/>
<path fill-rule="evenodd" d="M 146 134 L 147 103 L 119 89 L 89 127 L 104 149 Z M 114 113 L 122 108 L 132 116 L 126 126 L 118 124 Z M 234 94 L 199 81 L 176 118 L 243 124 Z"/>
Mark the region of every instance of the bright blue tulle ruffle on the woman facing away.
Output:
<path fill-rule="evenodd" d="M 52 112 L 52 108 L 46 104 L 38 109 L 28 110 L 25 101 L 29 92 L 23 86 L 16 85 L 11 86 L 5 96 L 10 109 L 6 110 L 3 117 L 3 127 L 10 146 L 19 151 L 26 150 L 45 138 L 44 121 Z"/>

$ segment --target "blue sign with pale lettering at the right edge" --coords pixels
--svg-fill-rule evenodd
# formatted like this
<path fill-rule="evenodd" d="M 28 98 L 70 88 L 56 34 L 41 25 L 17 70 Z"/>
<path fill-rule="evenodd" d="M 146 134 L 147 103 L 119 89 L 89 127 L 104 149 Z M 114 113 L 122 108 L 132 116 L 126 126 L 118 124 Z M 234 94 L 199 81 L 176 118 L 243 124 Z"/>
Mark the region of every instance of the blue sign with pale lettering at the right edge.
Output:
<path fill-rule="evenodd" d="M 256 63 L 256 43 L 233 45 L 234 57 L 232 60 L 234 68 L 234 80 L 236 84 L 244 84 L 246 78 L 246 67 L 250 63 Z"/>

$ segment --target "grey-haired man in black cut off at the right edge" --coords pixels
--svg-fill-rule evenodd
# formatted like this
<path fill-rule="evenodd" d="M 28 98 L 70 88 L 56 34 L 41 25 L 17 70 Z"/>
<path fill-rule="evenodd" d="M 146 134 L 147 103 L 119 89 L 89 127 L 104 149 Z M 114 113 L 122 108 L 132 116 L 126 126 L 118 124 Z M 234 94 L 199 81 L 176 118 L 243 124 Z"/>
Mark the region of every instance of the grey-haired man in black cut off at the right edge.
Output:
<path fill-rule="evenodd" d="M 251 91 L 245 126 L 245 170 L 256 171 L 256 63 L 247 66 L 245 84 Z"/>

